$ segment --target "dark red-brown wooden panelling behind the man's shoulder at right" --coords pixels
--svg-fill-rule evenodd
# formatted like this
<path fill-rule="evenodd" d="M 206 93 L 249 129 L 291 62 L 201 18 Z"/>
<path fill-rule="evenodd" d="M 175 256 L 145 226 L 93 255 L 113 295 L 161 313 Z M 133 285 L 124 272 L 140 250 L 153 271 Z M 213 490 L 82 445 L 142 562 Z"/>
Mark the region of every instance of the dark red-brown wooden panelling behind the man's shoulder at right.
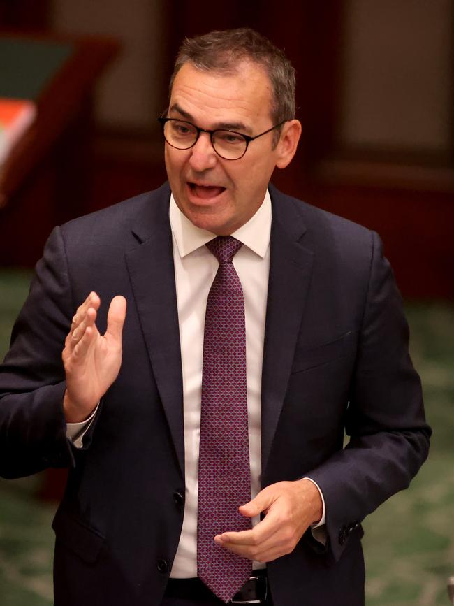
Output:
<path fill-rule="evenodd" d="M 453 194 L 337 185 L 311 201 L 380 234 L 404 296 L 454 299 Z"/>

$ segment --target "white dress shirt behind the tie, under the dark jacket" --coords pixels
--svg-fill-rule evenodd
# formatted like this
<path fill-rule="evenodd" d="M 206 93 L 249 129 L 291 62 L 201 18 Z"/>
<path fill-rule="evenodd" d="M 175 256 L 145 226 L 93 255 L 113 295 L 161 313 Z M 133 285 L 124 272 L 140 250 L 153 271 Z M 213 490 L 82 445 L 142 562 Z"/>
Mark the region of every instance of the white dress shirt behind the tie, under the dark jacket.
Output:
<path fill-rule="evenodd" d="M 219 263 L 205 244 L 216 237 L 199 229 L 170 198 L 170 226 L 177 287 L 182 352 L 184 407 L 184 464 L 186 500 L 180 544 L 171 577 L 197 576 L 198 448 L 202 390 L 203 331 L 208 292 Z M 233 257 L 244 295 L 246 322 L 247 411 L 251 496 L 261 480 L 261 379 L 266 299 L 270 270 L 271 200 L 268 192 L 254 217 L 232 236 L 244 244 Z M 241 503 L 239 503 L 241 505 Z M 253 520 L 253 524 L 258 521 Z"/>

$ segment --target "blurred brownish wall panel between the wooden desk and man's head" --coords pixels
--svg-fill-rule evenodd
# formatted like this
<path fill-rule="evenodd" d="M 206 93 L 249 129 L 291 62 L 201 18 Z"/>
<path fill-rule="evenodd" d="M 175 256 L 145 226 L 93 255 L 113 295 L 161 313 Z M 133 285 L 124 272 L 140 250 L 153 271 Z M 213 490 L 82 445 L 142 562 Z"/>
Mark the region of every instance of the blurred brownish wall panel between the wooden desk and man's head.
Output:
<path fill-rule="evenodd" d="M 163 108 L 160 0 L 54 0 L 52 27 L 117 38 L 122 53 L 98 87 L 96 114 L 107 126 L 149 129 Z"/>

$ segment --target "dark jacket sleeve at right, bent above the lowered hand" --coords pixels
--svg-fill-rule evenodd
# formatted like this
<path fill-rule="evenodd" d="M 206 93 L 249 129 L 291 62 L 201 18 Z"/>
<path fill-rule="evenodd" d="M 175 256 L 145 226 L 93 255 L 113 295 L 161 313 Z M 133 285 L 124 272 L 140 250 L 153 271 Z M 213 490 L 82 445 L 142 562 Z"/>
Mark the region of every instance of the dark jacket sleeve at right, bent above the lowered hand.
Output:
<path fill-rule="evenodd" d="M 365 516 L 407 488 L 427 457 L 420 379 L 393 272 L 372 233 L 369 284 L 346 411 L 349 443 L 307 473 L 323 493 L 335 558 Z"/>

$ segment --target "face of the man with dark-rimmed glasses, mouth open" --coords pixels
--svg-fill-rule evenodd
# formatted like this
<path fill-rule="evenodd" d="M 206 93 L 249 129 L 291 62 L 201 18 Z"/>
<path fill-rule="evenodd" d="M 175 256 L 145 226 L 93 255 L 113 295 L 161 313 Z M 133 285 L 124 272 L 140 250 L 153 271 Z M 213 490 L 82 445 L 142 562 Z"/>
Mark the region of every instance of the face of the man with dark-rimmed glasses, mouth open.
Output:
<path fill-rule="evenodd" d="M 254 136 L 273 126 L 271 94 L 268 75 L 254 64 L 240 64 L 234 75 L 184 64 L 173 83 L 168 117 Z M 166 143 L 168 180 L 178 208 L 194 225 L 220 236 L 244 225 L 263 202 L 274 166 L 281 161 L 279 144 L 272 149 L 273 135 L 251 141 L 238 160 L 219 157 L 207 133 L 189 150 Z"/>

